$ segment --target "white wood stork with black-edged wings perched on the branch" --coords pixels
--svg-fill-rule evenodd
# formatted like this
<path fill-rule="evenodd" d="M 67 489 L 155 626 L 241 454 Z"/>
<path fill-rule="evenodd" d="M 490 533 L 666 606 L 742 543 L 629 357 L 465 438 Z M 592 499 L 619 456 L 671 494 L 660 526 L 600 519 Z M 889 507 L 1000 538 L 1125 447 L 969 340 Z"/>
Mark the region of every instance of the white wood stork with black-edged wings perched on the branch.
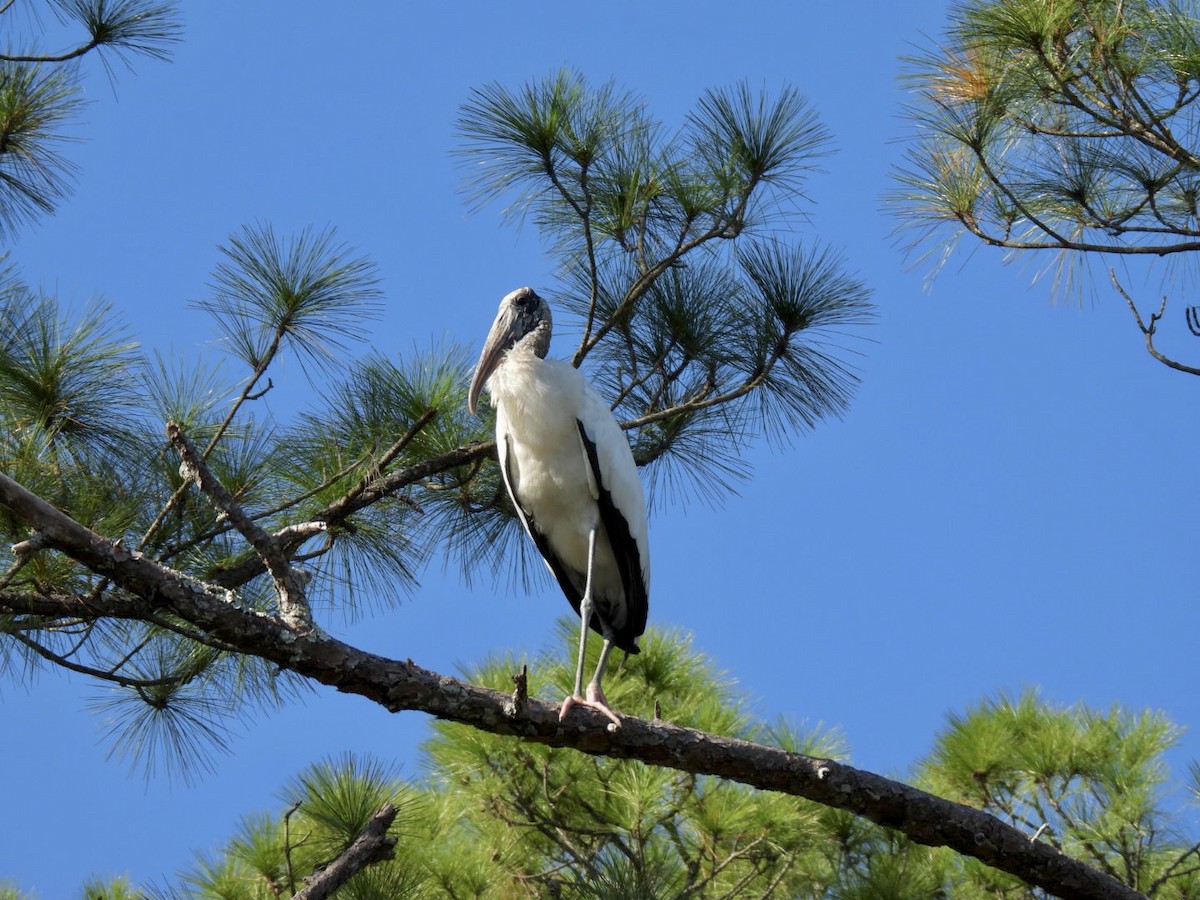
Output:
<path fill-rule="evenodd" d="M 575 704 L 620 720 L 600 678 L 613 647 L 637 653 L 650 582 L 646 498 L 634 454 L 608 404 L 574 366 L 546 359 L 550 306 L 530 288 L 500 301 L 479 356 L 467 406 L 487 385 L 496 407 L 496 449 L 504 485 L 526 532 L 580 614 Z M 604 637 L 583 686 L 588 628 Z M 610 726 L 611 727 L 611 726 Z"/>

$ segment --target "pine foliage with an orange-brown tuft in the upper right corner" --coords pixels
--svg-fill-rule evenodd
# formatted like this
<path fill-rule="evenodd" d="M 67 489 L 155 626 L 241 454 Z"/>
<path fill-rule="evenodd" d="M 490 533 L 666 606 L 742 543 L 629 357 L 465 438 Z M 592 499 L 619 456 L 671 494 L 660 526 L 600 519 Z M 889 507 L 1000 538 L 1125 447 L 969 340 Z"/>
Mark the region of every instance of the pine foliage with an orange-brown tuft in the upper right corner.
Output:
<path fill-rule="evenodd" d="M 910 248 L 946 262 L 961 238 L 1037 257 L 1060 292 L 1115 294 L 1159 362 L 1160 325 L 1200 337 L 1200 307 L 1164 320 L 1200 259 L 1200 18 L 1175 0 L 970 0 L 908 60 L 914 125 L 893 199 Z M 1154 312 L 1127 292 L 1153 277 Z M 1157 298 L 1156 298 L 1157 300 Z"/>

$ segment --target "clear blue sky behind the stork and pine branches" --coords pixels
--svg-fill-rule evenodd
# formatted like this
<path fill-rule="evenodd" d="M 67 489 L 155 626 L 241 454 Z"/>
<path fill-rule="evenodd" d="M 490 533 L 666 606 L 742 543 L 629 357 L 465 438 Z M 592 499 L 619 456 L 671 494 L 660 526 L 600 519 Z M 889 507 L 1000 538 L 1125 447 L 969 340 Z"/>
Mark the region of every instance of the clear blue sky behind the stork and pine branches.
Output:
<path fill-rule="evenodd" d="M 853 762 L 884 774 L 926 752 L 948 712 L 1001 690 L 1200 722 L 1200 382 L 1152 361 L 1106 289 L 1054 304 L 1031 268 L 964 245 L 926 290 L 892 236 L 898 58 L 941 30 L 946 4 L 332 8 L 190 4 L 174 62 L 139 62 L 115 89 L 91 64 L 68 148 L 78 188 L 12 246 L 25 278 L 76 307 L 110 300 L 148 348 L 212 356 L 187 302 L 205 296 L 216 245 L 254 222 L 334 226 L 380 268 L 376 350 L 475 353 L 499 298 L 552 288 L 553 262 L 532 229 L 463 202 L 450 151 L 472 88 L 570 65 L 677 126 L 706 88 L 794 85 L 838 148 L 809 185 L 805 235 L 844 252 L 880 311 L 852 344 L 863 383 L 844 420 L 755 446 L 720 509 L 656 510 L 652 622 L 690 631 L 763 716 L 836 726 Z M 1182 308 L 1163 347 L 1200 360 Z M 278 415 L 314 400 L 294 361 L 275 380 Z M 434 564 L 400 610 L 328 626 L 450 672 L 546 647 L 565 610 L 548 580 L 526 594 Z M 0 689 L 0 881 L 43 899 L 91 874 L 169 877 L 318 758 L 368 752 L 415 775 L 427 726 L 320 690 L 247 721 L 200 784 L 145 784 L 106 760 L 95 694 L 54 673 Z M 1198 757 L 1188 731 L 1176 775 Z"/>

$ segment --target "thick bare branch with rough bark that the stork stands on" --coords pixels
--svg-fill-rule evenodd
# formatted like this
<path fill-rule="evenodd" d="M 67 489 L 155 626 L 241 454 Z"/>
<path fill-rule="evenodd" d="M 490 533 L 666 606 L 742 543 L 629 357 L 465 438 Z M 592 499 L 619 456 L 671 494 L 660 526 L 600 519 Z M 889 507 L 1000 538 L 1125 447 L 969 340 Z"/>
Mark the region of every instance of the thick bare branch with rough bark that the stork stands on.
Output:
<path fill-rule="evenodd" d="M 96 534 L 0 474 L 0 505 L 58 548 L 136 595 L 133 606 L 166 610 L 236 650 L 374 701 L 391 712 L 416 709 L 481 731 L 614 758 L 641 760 L 804 797 L 894 828 L 918 844 L 947 846 L 1061 898 L 1130 900 L 1126 884 L 968 806 L 842 766 L 662 721 L 625 716 L 616 732 L 599 713 L 580 709 L 566 722 L 558 706 L 511 696 L 366 653 L 319 631 L 298 634 L 278 618 L 242 606 L 235 594 L 198 583 Z M 62 598 L 64 614 L 86 604 Z"/>

